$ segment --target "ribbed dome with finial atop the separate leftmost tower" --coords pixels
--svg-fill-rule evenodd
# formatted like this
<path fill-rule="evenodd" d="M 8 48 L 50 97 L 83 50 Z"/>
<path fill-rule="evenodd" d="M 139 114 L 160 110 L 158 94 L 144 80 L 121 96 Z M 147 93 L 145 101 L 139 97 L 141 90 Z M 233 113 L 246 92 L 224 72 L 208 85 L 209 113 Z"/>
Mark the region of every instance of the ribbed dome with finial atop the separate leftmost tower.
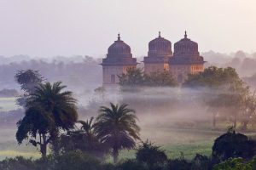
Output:
<path fill-rule="evenodd" d="M 132 57 L 131 48 L 120 39 L 119 35 L 118 40 L 108 48 L 107 57 Z"/>

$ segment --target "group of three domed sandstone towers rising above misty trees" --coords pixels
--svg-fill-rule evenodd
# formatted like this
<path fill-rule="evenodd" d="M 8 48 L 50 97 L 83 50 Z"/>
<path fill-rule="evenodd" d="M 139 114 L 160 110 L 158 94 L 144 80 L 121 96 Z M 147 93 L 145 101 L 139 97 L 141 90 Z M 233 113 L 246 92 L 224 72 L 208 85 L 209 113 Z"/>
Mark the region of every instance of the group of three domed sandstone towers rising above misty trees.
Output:
<path fill-rule="evenodd" d="M 191 41 L 187 32 L 183 39 L 174 44 L 159 37 L 148 43 L 148 56 L 144 57 L 144 72 L 150 74 L 155 71 L 170 71 L 175 80 L 181 84 L 189 74 L 204 71 L 204 59 L 198 51 L 198 44 Z M 126 73 L 127 68 L 136 68 L 137 59 L 132 58 L 131 48 L 120 39 L 108 48 L 108 54 L 102 59 L 103 86 L 109 87 L 119 83 L 119 76 Z"/>

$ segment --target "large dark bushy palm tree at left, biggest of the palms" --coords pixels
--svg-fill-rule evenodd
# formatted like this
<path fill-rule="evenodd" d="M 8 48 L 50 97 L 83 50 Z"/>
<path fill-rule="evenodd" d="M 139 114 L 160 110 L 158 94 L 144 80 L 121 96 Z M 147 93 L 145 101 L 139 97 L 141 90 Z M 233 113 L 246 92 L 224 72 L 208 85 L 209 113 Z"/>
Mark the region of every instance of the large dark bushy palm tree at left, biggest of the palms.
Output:
<path fill-rule="evenodd" d="M 55 153 L 57 153 L 59 131 L 73 128 L 78 119 L 76 99 L 73 98 L 70 91 L 61 92 L 63 88 L 66 88 L 66 86 L 61 86 L 61 82 L 53 84 L 46 82 L 36 87 L 35 92 L 26 100 L 25 117 L 18 122 L 16 137 L 19 143 L 30 136 L 34 139 L 32 140 L 33 145 L 39 144 L 42 140 L 45 140 L 44 145 L 51 142 Z M 35 117 L 38 117 L 38 120 Z M 38 123 L 40 121 L 44 124 Z M 41 126 L 44 126 L 44 128 Z M 34 127 L 43 128 L 44 130 L 37 131 Z M 36 141 L 37 133 L 39 136 L 42 135 L 39 142 Z M 46 139 L 47 137 L 48 139 Z M 46 155 L 46 148 L 44 150 L 44 153 L 41 151 L 42 156 Z"/>

